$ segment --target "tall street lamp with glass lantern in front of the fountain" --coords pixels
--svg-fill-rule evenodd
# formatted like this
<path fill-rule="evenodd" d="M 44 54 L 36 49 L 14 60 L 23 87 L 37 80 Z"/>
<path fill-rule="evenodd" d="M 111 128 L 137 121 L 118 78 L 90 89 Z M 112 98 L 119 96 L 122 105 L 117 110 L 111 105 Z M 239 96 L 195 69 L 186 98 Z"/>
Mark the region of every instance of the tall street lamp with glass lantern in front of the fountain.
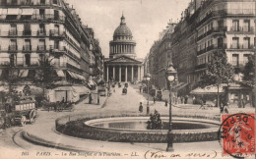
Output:
<path fill-rule="evenodd" d="M 167 148 L 166 151 L 173 152 L 173 134 L 172 134 L 172 123 L 171 123 L 171 85 L 172 82 L 176 79 L 177 72 L 173 68 L 172 63 L 170 63 L 169 67 L 165 71 L 165 77 L 169 83 L 169 127 L 168 127 L 168 133 L 167 133 Z"/>

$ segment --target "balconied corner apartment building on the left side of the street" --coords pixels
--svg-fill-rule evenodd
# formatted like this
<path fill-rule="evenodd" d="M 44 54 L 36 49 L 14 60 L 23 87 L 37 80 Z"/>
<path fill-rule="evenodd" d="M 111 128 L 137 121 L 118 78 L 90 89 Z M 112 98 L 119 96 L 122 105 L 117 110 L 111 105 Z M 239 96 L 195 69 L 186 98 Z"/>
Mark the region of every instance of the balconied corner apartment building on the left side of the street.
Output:
<path fill-rule="evenodd" d="M 23 70 L 25 79 L 34 77 L 44 56 L 50 57 L 56 76 L 67 85 L 79 87 L 97 76 L 90 66 L 95 56 L 101 58 L 99 44 L 64 0 L 0 0 L 0 13 L 1 78 L 10 67 Z M 73 98 L 70 88 L 51 94 L 54 100 Z"/>

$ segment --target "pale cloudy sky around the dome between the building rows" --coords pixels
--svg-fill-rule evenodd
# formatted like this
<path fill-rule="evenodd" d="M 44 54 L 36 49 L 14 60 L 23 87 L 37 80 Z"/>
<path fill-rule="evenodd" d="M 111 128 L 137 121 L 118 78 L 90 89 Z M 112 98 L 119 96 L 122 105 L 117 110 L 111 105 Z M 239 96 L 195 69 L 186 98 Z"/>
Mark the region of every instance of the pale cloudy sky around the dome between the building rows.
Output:
<path fill-rule="evenodd" d="M 109 41 L 122 13 L 136 41 L 136 55 L 145 58 L 167 23 L 177 22 L 191 0 L 66 0 L 84 25 L 93 27 L 102 54 L 109 56 Z"/>

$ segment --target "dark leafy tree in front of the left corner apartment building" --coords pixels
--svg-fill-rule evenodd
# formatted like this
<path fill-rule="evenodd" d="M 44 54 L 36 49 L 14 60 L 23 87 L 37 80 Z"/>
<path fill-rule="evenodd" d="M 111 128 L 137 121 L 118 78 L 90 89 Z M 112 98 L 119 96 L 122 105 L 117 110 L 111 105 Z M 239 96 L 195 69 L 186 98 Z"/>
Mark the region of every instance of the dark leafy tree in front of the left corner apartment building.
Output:
<path fill-rule="evenodd" d="M 55 81 L 59 80 L 54 70 L 54 66 L 51 64 L 49 56 L 42 56 L 38 60 L 39 67 L 36 69 L 34 76 L 34 83 L 36 86 L 41 87 L 43 90 L 43 96 L 45 95 L 45 88 L 53 88 L 56 86 Z"/>

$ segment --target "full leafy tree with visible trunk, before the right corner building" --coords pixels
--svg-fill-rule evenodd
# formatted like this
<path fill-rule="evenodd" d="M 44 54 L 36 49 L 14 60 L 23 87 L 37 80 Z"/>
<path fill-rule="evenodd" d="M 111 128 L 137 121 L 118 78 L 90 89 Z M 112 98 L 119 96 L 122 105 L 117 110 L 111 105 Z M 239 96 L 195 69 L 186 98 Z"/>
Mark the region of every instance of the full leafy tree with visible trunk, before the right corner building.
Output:
<path fill-rule="evenodd" d="M 218 88 L 217 105 L 220 106 L 220 84 L 229 83 L 233 79 L 233 69 L 227 63 L 226 54 L 223 50 L 215 51 L 212 55 L 212 60 L 207 64 L 206 74 L 203 75 L 199 84 L 201 87 L 215 85 Z"/>

